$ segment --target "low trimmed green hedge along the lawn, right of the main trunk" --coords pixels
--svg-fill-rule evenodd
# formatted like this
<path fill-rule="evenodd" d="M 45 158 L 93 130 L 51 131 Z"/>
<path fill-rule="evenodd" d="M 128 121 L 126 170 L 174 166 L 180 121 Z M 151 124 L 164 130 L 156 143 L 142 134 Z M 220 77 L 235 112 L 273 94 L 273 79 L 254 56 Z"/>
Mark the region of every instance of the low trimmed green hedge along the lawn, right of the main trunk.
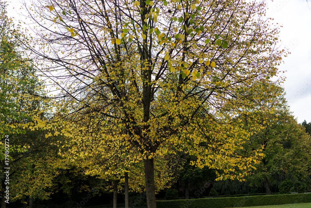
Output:
<path fill-rule="evenodd" d="M 157 201 L 157 208 L 225 208 L 311 202 L 311 193 Z"/>

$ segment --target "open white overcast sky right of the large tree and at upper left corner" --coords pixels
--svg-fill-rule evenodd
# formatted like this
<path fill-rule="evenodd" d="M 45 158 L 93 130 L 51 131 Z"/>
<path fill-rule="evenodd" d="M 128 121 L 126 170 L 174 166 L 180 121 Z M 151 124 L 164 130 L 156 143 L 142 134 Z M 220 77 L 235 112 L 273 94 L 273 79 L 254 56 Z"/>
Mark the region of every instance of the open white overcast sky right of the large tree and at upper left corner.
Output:
<path fill-rule="evenodd" d="M 7 7 L 8 16 L 19 19 L 16 9 L 21 0 L 12 0 Z M 291 54 L 283 57 L 280 70 L 286 71 L 284 89 L 290 110 L 299 123 L 311 121 L 311 0 L 266 1 L 267 17 L 283 26 L 280 28 L 281 47 Z M 309 7 L 308 7 L 309 3 Z M 14 7 L 14 8 L 13 8 Z"/>

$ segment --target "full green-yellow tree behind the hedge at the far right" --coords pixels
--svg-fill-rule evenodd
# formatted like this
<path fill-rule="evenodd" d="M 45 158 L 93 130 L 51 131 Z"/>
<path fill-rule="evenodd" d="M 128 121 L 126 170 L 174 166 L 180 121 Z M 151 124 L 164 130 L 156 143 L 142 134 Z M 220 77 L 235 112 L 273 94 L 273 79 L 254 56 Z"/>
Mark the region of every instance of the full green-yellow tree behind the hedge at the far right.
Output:
<path fill-rule="evenodd" d="M 283 93 L 283 89 L 276 89 Z M 256 184 L 256 180 L 263 179 L 267 195 L 271 195 L 271 184 L 282 182 L 286 177 L 292 180 L 305 178 L 310 166 L 310 136 L 291 115 L 283 94 L 276 97 L 273 105 L 276 111 L 263 114 L 258 120 L 262 122 L 262 130 L 256 131 L 251 139 L 245 143 L 244 152 L 251 152 L 262 146 L 265 156 L 255 167 L 256 172 L 249 180 Z M 257 184 L 260 182 L 257 181 Z"/>

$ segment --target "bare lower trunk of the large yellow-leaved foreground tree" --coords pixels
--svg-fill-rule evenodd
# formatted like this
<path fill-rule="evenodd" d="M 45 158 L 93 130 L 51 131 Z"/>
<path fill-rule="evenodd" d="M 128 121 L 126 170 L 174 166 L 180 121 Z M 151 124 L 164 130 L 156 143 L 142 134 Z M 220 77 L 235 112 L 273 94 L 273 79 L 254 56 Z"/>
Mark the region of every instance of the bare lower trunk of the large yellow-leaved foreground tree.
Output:
<path fill-rule="evenodd" d="M 154 163 L 153 158 L 144 159 L 147 208 L 156 208 L 156 192 L 154 181 Z"/>

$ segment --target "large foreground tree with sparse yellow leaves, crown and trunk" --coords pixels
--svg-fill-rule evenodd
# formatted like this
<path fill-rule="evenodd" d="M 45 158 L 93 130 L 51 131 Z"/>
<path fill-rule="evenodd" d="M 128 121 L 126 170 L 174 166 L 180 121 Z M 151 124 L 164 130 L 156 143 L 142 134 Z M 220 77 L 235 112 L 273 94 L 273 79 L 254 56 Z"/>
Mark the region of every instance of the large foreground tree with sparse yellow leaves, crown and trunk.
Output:
<path fill-rule="evenodd" d="M 36 37 L 23 43 L 59 88 L 58 119 L 66 126 L 89 114 L 85 128 L 117 129 L 143 158 L 149 208 L 156 207 L 157 154 L 184 150 L 196 155 L 194 165 L 222 169 L 219 179 L 234 177 L 236 169 L 247 173 L 258 162 L 255 154 L 234 157 L 250 134 L 231 118 L 267 110 L 256 103 L 271 92 L 252 97 L 252 83 L 269 84 L 278 73 L 283 52 L 277 28 L 264 19 L 264 2 L 45 0 L 25 6 Z"/>

